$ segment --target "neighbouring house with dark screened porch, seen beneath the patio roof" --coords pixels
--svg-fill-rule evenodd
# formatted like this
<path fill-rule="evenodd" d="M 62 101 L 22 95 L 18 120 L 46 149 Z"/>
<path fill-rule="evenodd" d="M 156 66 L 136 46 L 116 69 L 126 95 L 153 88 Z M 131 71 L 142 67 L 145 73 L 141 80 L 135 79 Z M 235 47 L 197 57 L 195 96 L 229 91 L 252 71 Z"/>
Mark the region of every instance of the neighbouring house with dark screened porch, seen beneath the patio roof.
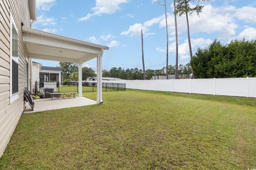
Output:
<path fill-rule="evenodd" d="M 61 82 L 60 67 L 42 66 L 37 62 L 32 62 L 32 84 L 36 82 Z"/>

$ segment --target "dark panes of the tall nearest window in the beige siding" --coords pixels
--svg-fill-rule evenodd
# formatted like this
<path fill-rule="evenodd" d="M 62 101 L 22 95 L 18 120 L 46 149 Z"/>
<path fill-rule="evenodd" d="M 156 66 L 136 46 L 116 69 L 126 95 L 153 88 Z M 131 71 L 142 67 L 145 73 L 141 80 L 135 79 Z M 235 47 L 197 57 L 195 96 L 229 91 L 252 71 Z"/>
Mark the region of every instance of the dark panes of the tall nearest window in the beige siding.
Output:
<path fill-rule="evenodd" d="M 12 24 L 12 94 L 19 91 L 18 33 Z"/>

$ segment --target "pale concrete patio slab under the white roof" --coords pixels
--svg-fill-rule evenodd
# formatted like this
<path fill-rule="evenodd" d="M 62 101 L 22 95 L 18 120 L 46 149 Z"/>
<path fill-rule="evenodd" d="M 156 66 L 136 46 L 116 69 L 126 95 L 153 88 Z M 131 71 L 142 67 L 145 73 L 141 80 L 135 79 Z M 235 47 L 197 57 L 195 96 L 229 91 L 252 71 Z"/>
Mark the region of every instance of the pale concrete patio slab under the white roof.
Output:
<path fill-rule="evenodd" d="M 34 111 L 32 111 L 31 107 L 27 105 L 24 113 L 36 113 L 43 111 L 51 111 L 55 109 L 62 108 L 70 108 L 70 107 L 79 107 L 79 106 L 89 106 L 97 104 L 96 101 L 85 98 L 85 97 L 76 97 L 76 98 L 60 98 L 54 99 L 46 98 L 46 99 L 36 99 Z"/>

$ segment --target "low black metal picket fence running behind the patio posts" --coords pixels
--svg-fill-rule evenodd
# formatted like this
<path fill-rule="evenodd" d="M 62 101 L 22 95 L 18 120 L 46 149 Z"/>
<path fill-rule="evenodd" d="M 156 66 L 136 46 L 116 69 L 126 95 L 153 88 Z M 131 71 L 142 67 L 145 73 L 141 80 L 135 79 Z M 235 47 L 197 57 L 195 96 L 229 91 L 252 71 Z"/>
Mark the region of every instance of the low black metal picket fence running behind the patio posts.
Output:
<path fill-rule="evenodd" d="M 97 82 L 83 82 L 83 92 L 97 92 Z M 52 89 L 54 92 L 78 92 L 78 82 L 35 82 L 34 92 L 40 89 Z M 125 83 L 102 82 L 102 91 L 125 91 Z"/>

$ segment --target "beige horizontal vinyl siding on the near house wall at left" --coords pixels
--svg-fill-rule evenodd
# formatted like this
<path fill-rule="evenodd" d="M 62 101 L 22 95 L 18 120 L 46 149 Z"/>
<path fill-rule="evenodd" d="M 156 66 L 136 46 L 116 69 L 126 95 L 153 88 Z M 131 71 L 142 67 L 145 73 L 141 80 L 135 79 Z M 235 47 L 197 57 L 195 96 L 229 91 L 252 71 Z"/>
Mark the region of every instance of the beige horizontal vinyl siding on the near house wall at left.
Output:
<path fill-rule="evenodd" d="M 18 28 L 19 38 L 19 98 L 10 104 L 10 14 Z M 26 54 L 22 41 L 21 22 L 30 27 L 28 0 L 0 1 L 0 157 L 2 156 L 19 118 L 25 109 L 23 90 L 26 86 Z M 29 80 L 31 60 L 28 58 Z"/>

